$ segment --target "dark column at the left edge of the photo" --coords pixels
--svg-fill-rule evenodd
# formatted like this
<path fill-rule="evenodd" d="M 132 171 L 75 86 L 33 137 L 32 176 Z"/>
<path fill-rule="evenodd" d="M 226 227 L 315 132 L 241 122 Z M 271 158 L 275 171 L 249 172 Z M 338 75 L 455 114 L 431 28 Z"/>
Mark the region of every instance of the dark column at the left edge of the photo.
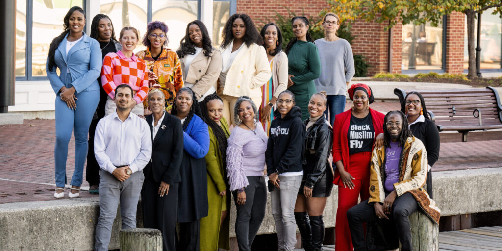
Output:
<path fill-rule="evenodd" d="M 7 113 L 16 85 L 16 1 L 0 1 L 0 27 L 0 113 Z"/>

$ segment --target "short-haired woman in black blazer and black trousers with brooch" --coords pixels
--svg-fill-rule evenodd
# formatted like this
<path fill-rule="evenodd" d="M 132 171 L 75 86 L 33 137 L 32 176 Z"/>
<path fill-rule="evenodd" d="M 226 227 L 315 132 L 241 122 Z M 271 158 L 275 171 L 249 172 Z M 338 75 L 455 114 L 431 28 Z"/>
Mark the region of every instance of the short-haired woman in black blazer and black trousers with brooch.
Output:
<path fill-rule="evenodd" d="M 146 116 L 153 144 L 152 159 L 143 171 L 143 222 L 145 228 L 162 232 L 164 250 L 174 250 L 183 130 L 180 119 L 165 111 L 164 93 L 159 89 L 148 93 L 148 107 L 153 111 Z"/>

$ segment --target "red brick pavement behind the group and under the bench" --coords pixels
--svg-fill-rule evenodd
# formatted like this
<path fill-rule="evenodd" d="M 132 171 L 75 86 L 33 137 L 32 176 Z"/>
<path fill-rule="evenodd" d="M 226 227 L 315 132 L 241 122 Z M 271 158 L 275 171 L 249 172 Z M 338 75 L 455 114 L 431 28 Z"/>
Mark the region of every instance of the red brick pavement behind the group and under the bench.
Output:
<path fill-rule="evenodd" d="M 346 104 L 346 109 L 351 107 Z M 373 109 L 399 109 L 397 102 L 375 102 Z M 54 119 L 26 119 L 23 124 L 0 126 L 0 204 L 53 200 Z M 69 144 L 67 177 L 73 174 L 74 139 Z M 502 166 L 502 141 L 441 144 L 434 171 Z M 85 169 L 84 169 L 85 174 Z M 83 187 L 89 184 L 85 181 Z M 66 189 L 66 193 L 68 193 Z M 87 191 L 81 196 L 90 197 Z M 67 198 L 67 195 L 66 197 Z"/>

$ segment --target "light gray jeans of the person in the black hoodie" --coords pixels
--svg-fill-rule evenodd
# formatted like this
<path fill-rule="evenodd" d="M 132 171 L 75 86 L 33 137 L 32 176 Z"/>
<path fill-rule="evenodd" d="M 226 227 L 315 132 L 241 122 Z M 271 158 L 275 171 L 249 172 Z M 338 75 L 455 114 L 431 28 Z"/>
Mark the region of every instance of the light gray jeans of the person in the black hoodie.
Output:
<path fill-rule="evenodd" d="M 293 250 L 296 244 L 295 203 L 303 175 L 279 175 L 279 186 L 270 194 L 272 216 L 276 222 L 279 250 Z M 270 185 L 270 183 L 269 183 Z"/>

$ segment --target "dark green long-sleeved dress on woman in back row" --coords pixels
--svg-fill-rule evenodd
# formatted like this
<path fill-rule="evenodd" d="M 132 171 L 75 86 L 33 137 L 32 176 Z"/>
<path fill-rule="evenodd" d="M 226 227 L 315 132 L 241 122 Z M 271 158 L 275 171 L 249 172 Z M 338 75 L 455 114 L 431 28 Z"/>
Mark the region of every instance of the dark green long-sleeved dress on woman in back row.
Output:
<path fill-rule="evenodd" d="M 316 93 L 314 79 L 321 75 L 321 60 L 314 43 L 297 40 L 288 53 L 289 74 L 294 85 L 288 90 L 295 94 L 296 106 L 302 109 L 302 120 L 309 118 L 308 105 Z"/>

